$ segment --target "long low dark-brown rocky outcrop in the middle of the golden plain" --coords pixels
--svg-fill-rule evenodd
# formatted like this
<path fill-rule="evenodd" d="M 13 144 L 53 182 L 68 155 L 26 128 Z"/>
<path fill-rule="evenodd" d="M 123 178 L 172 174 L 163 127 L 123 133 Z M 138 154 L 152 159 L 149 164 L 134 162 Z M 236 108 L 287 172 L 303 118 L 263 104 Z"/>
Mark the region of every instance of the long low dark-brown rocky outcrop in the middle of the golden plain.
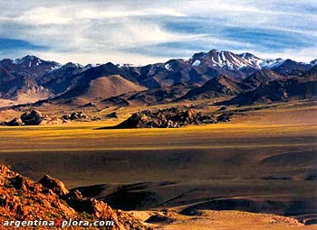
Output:
<path fill-rule="evenodd" d="M 115 128 L 178 128 L 189 124 L 213 124 L 213 115 L 203 115 L 193 109 L 171 107 L 163 110 L 144 110 L 133 114 Z"/>

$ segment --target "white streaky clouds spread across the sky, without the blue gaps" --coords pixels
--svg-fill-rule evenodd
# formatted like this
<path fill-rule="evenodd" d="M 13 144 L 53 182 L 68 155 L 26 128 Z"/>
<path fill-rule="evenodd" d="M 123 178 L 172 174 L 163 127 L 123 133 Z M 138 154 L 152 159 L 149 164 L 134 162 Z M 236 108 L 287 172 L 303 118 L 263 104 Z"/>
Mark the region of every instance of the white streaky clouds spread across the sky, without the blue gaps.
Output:
<path fill-rule="evenodd" d="M 162 0 L 162 1 L 62 1 L 34 0 L 0 3 L 0 38 L 29 41 L 49 46 L 46 51 L 36 51 L 45 59 L 61 62 L 130 62 L 145 64 L 164 60 L 154 53 L 131 53 L 144 46 L 166 42 L 187 42 L 218 47 L 236 47 L 239 51 L 255 51 L 265 57 L 290 57 L 309 60 L 316 56 L 315 48 L 284 49 L 283 51 L 258 51 L 257 41 L 243 42 L 226 38 L 218 30 L 233 26 L 257 30 L 278 30 L 285 34 L 296 32 L 308 40 L 317 39 L 317 9 L 314 0 L 292 2 L 286 0 L 234 1 L 234 0 Z M 32 2 L 32 3 L 31 3 Z M 202 18 L 212 22 L 210 32 L 177 32 L 166 29 L 166 24 L 186 19 Z M 199 25 L 197 25 L 199 26 Z M 313 46 L 312 46 L 313 47 Z M 184 55 L 188 53 L 186 48 Z M 28 51 L 23 51 L 25 54 Z M 32 51 L 30 51 L 32 52 Z M 22 54 L 16 51 L 14 54 Z M 33 51 L 34 53 L 34 51 Z M 180 53 L 180 51 L 176 52 Z M 4 57 L 8 53 L 2 53 Z M 12 55 L 12 54 L 11 54 Z M 50 57 L 52 55 L 52 57 Z M 178 57 L 175 57 L 178 58 Z M 185 58 L 185 57 L 181 57 Z M 315 57 L 316 58 L 316 57 Z"/>

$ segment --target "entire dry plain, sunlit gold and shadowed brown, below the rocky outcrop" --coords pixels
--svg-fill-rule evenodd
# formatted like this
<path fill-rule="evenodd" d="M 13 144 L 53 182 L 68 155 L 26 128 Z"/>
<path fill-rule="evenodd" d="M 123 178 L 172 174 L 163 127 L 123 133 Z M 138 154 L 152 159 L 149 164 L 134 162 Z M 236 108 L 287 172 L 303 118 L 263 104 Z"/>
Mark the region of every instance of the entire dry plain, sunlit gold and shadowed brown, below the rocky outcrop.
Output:
<path fill-rule="evenodd" d="M 317 104 L 313 101 L 249 111 L 236 115 L 228 124 L 98 129 L 118 124 L 131 108 L 118 112 L 119 120 L 106 122 L 0 127 L 0 160 L 33 179 L 49 173 L 69 188 L 101 184 L 96 197 L 123 209 L 174 208 L 185 212 L 234 205 L 239 210 L 269 213 L 269 201 L 279 204 L 273 211 L 279 215 L 317 210 L 313 178 L 317 175 Z M 122 184 L 126 185 L 123 191 Z M 248 202 L 253 209 L 240 201 Z M 230 220 L 230 215 L 242 216 Z M 273 225 L 265 216 L 258 220 L 243 215 L 210 212 L 199 217 L 178 216 L 173 225 L 162 227 L 203 230 L 239 229 L 235 225 L 240 224 L 248 225 L 247 229 L 291 226 L 282 222 Z M 291 229 L 302 228 L 316 229 L 313 225 Z"/>

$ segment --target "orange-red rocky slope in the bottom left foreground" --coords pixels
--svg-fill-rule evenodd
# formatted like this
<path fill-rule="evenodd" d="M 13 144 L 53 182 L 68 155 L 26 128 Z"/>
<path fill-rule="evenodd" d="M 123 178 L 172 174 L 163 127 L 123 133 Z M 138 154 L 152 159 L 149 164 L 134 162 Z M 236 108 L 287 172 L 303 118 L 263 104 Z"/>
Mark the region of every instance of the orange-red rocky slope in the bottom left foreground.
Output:
<path fill-rule="evenodd" d="M 70 192 L 62 181 L 44 176 L 38 183 L 25 178 L 0 163 L 0 229 L 11 229 L 5 221 L 54 221 L 76 219 L 93 223 L 112 221 L 113 226 L 86 226 L 84 229 L 150 229 L 129 214 L 113 210 L 94 198 L 84 198 L 78 190 Z M 58 229 L 54 226 L 28 226 L 24 229 Z M 83 229 L 67 226 L 66 229 Z"/>

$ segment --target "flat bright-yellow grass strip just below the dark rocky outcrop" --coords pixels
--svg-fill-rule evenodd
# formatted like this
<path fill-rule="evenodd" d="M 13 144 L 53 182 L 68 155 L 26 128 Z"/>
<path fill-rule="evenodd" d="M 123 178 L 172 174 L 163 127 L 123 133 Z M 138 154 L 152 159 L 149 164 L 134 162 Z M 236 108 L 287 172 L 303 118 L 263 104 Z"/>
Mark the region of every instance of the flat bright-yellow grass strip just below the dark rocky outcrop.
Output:
<path fill-rule="evenodd" d="M 209 124 L 178 129 L 99 130 L 115 122 L 65 124 L 52 126 L 0 128 L 0 152 L 83 151 L 83 150 L 147 150 L 199 149 L 243 146 L 289 146 L 310 142 L 293 142 L 292 136 L 310 137 L 317 134 L 317 124 Z M 289 136 L 283 142 L 268 139 Z M 235 138 L 252 137 L 254 141 L 233 142 Z M 289 142 L 291 141 L 291 142 Z M 252 144 L 254 143 L 254 144 Z"/>

